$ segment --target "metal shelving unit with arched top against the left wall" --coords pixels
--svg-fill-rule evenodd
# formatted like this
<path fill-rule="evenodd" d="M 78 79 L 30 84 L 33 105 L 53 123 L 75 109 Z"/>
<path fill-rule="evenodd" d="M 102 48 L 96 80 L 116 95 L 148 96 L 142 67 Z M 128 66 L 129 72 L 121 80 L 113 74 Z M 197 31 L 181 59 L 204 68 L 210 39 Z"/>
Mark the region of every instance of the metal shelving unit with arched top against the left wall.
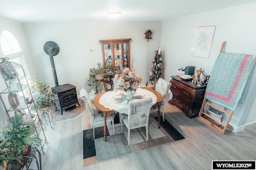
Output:
<path fill-rule="evenodd" d="M 43 150 L 44 144 L 48 143 L 48 141 L 46 140 L 46 136 L 44 134 L 44 129 L 42 127 L 43 123 L 38 114 L 38 110 L 36 109 L 36 113 L 32 113 L 30 109 L 31 105 L 34 105 L 36 108 L 36 104 L 34 103 L 32 92 L 30 90 L 28 79 L 26 78 L 23 67 L 18 63 L 8 61 L 8 57 L 5 57 L 0 58 L 0 68 L 2 75 L 7 75 L 12 72 L 12 76 L 14 76 L 16 79 L 15 86 L 10 86 L 8 84 L 10 83 L 10 80 L 7 80 L 5 82 L 6 88 L 0 93 L 0 100 L 4 106 L 9 121 L 12 121 L 12 116 L 14 116 L 16 111 L 22 113 L 22 118 L 24 115 L 28 114 L 31 119 L 36 120 L 34 125 L 40 127 L 36 128 L 35 126 L 36 137 L 38 139 L 42 139 Z M 27 100 L 28 98 L 30 101 Z M 40 133 L 43 134 L 39 137 Z"/>

